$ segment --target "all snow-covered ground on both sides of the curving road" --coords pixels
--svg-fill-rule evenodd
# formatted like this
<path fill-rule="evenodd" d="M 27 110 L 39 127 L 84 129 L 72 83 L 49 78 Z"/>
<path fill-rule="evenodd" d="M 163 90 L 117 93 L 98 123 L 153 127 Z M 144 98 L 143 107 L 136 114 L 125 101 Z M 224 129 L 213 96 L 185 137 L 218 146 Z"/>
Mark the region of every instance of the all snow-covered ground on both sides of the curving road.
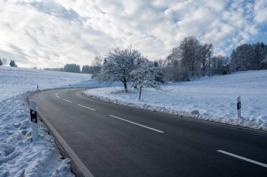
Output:
<path fill-rule="evenodd" d="M 107 87 L 89 74 L 0 67 L 0 177 L 73 176 L 69 159 L 60 159 L 53 137 L 39 124 L 39 139 L 32 142 L 30 110 L 25 96 L 39 89 Z M 119 83 L 122 85 L 121 83 Z M 166 84 L 165 91 L 123 91 L 122 86 L 92 89 L 92 98 L 209 119 L 267 131 L 267 71 L 238 72 L 195 81 Z M 236 98 L 241 96 L 242 119 L 236 119 Z M 192 114 L 191 112 L 200 112 Z"/>

